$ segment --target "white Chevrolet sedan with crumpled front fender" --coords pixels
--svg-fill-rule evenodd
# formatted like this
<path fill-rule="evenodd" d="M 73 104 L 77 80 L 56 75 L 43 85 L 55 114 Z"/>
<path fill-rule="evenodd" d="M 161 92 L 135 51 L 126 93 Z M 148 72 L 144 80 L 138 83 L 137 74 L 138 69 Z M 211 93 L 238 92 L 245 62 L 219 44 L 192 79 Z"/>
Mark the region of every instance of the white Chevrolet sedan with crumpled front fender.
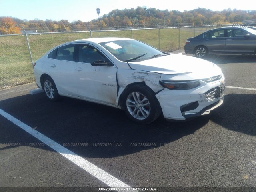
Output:
<path fill-rule="evenodd" d="M 209 114 L 224 98 L 224 75 L 212 62 L 128 38 L 68 42 L 33 66 L 36 84 L 50 100 L 68 96 L 113 106 L 142 124 L 160 114 L 167 120 Z"/>

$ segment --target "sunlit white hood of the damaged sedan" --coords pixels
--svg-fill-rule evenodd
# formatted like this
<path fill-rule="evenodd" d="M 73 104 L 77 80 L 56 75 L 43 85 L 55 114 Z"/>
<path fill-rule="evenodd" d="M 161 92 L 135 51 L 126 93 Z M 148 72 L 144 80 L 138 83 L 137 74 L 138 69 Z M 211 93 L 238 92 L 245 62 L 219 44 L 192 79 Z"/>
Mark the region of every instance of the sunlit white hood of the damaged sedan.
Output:
<path fill-rule="evenodd" d="M 221 74 L 218 66 L 212 62 L 182 54 L 170 54 L 140 62 L 128 62 L 134 70 L 150 71 L 160 74 L 204 74 L 209 76 Z"/>

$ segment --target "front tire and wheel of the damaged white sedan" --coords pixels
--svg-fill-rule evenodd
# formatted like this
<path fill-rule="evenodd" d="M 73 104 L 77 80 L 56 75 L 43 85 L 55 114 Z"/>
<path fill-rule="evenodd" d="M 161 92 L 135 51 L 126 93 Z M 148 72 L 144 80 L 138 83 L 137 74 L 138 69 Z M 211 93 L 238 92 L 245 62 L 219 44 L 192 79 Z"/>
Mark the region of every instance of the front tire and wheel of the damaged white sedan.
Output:
<path fill-rule="evenodd" d="M 145 85 L 135 85 L 124 94 L 124 111 L 128 118 L 140 124 L 149 124 L 161 114 L 154 92 Z"/>

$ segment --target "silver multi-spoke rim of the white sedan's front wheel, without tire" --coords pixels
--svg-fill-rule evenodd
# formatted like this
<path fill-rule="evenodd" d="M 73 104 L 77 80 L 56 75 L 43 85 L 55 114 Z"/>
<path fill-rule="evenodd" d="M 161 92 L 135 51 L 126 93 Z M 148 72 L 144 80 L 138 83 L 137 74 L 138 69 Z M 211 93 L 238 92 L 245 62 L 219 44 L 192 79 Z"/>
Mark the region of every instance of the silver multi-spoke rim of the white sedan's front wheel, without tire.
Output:
<path fill-rule="evenodd" d="M 150 102 L 140 92 L 132 92 L 126 99 L 128 112 L 138 120 L 144 120 L 150 115 Z"/>

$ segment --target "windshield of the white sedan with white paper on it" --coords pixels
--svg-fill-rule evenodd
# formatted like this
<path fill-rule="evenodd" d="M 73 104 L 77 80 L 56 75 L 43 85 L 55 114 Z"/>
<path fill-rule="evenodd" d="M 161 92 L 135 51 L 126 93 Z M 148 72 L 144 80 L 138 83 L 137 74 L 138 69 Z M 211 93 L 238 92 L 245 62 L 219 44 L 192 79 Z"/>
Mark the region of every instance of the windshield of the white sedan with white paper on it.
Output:
<path fill-rule="evenodd" d="M 118 60 L 126 62 L 138 62 L 166 55 L 166 53 L 137 40 L 102 42 L 100 45 L 106 48 Z"/>

